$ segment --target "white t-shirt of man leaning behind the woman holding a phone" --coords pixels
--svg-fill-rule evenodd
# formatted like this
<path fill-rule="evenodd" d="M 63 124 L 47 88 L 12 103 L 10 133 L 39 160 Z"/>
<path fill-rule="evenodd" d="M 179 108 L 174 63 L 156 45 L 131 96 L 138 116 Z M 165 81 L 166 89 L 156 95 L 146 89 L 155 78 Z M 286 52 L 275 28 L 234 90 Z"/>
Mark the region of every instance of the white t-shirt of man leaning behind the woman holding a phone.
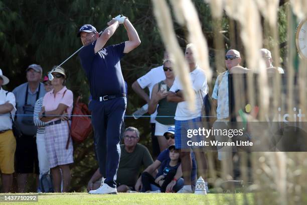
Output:
<path fill-rule="evenodd" d="M 165 80 L 165 73 L 163 70 L 163 65 L 152 68 L 149 72 L 147 72 L 145 75 L 141 76 L 137 79 L 137 82 L 139 86 L 144 89 L 145 87 L 148 87 L 149 89 L 149 98 L 151 97 L 152 88 L 154 88 L 155 84 L 158 82 Z M 157 107 L 158 108 L 158 107 Z M 157 110 L 155 113 L 150 115 L 150 123 L 156 123 L 157 116 Z"/>

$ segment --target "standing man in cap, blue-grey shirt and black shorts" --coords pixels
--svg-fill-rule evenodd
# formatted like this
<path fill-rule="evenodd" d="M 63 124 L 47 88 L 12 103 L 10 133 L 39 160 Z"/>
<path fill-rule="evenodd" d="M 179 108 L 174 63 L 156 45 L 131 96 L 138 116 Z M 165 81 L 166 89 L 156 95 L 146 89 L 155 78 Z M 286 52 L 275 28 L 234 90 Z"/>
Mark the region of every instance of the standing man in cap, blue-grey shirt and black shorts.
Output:
<path fill-rule="evenodd" d="M 36 174 L 39 182 L 39 164 L 36 146 L 37 128 L 33 122 L 35 102 L 45 95 L 44 84 L 41 83 L 43 69 L 40 65 L 32 64 L 26 69 L 27 81 L 13 90 L 16 97 L 16 124 L 22 135 L 16 137 L 16 172 L 18 191 L 24 192 L 29 173 Z"/>

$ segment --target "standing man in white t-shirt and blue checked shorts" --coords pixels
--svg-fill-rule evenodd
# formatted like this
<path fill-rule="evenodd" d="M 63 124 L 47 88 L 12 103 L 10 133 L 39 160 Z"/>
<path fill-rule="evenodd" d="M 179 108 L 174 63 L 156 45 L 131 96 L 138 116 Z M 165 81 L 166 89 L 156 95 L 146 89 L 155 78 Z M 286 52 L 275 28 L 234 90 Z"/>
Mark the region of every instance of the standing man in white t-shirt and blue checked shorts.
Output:
<path fill-rule="evenodd" d="M 203 97 L 207 94 L 208 85 L 207 78 L 204 71 L 199 68 L 195 62 L 193 51 L 193 44 L 188 44 L 186 47 L 185 57 L 190 68 L 190 80 L 192 82 L 192 88 L 195 91 L 195 111 L 189 110 L 188 102 L 183 97 L 182 90 L 184 89 L 180 79 L 175 78 L 174 84 L 171 87 L 167 96 L 169 101 L 178 102 L 176 114 L 175 114 L 175 145 L 177 149 L 181 149 L 180 158 L 182 165 L 183 177 L 185 179 L 184 187 L 179 190 L 180 193 L 192 193 L 193 189 L 191 185 L 195 185 L 190 179 L 192 171 L 192 159 L 191 159 L 191 147 L 187 145 L 187 130 L 202 128 L 202 102 Z M 195 139 L 195 138 L 194 138 Z M 185 149 L 183 151 L 183 149 Z M 206 173 L 206 158 L 203 152 L 195 152 L 196 161 L 200 173 Z M 197 156 L 197 154 L 199 154 Z M 201 165 L 201 166 L 199 166 Z"/>

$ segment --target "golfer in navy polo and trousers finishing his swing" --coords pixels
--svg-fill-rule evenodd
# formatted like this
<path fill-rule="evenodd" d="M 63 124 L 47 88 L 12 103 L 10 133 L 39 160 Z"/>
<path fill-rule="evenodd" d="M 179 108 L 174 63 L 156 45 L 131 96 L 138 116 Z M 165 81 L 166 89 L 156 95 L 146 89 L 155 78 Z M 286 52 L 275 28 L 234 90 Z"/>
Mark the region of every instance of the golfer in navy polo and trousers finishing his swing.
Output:
<path fill-rule="evenodd" d="M 129 40 L 104 48 L 119 24 L 124 25 Z M 108 22 L 101 36 L 91 25 L 82 26 L 78 36 L 84 45 L 79 57 L 92 95 L 89 109 L 92 111 L 99 170 L 105 178 L 102 178 L 100 188 L 90 193 L 117 193 L 115 181 L 120 158 L 119 136 L 127 105 L 120 59 L 136 48 L 140 40 L 129 20 L 120 16 Z"/>

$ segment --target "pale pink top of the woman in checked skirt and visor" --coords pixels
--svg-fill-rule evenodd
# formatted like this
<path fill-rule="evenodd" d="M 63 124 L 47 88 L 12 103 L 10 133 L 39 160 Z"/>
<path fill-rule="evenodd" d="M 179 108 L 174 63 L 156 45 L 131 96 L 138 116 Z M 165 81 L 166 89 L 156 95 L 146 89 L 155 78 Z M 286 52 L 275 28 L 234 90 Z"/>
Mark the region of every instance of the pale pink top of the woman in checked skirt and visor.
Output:
<path fill-rule="evenodd" d="M 44 102 L 43 107 L 45 107 L 45 111 L 54 111 L 58 108 L 59 104 L 64 104 L 68 106 L 67 113 L 70 118 L 72 109 L 73 109 L 73 102 L 74 102 L 74 96 L 71 90 L 67 89 L 66 86 L 64 86 L 60 91 L 56 93 L 56 96 L 54 97 L 53 90 L 47 92 L 44 96 Z M 65 94 L 64 91 L 66 90 Z M 64 96 L 63 96 L 64 94 Z M 60 118 L 54 118 L 49 122 L 59 120 Z"/>

